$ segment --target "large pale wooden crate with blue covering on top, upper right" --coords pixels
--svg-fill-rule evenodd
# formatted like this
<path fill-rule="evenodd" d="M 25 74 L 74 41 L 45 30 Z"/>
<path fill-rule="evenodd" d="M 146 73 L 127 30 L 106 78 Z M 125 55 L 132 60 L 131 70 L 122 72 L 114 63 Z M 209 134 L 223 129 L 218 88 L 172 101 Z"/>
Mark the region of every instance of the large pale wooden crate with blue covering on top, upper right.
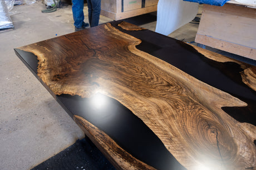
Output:
<path fill-rule="evenodd" d="M 256 9 L 204 4 L 195 42 L 256 60 Z"/>

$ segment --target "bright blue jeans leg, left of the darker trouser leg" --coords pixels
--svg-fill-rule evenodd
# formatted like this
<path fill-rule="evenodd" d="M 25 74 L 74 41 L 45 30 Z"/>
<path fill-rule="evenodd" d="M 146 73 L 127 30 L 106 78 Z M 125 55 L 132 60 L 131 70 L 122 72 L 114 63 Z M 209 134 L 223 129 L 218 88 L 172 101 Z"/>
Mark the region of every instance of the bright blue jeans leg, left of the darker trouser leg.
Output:
<path fill-rule="evenodd" d="M 84 24 L 83 19 L 83 0 L 72 0 L 72 13 L 74 19 L 74 25 L 77 28 L 81 28 Z"/>

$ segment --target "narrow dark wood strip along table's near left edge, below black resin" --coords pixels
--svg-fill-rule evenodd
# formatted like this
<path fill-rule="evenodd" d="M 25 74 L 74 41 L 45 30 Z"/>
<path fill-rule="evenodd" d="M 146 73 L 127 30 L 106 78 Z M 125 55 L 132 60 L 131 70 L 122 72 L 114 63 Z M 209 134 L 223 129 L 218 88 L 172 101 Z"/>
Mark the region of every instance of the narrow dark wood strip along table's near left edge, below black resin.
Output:
<path fill-rule="evenodd" d="M 99 150 L 105 153 L 106 157 L 114 159 L 111 163 L 114 164 L 117 169 L 155 169 L 127 153 L 106 133 L 93 126 L 92 123 L 86 121 L 81 116 L 75 115 L 73 119 L 86 133 L 86 136 L 90 137 L 93 143 L 96 143 Z"/>

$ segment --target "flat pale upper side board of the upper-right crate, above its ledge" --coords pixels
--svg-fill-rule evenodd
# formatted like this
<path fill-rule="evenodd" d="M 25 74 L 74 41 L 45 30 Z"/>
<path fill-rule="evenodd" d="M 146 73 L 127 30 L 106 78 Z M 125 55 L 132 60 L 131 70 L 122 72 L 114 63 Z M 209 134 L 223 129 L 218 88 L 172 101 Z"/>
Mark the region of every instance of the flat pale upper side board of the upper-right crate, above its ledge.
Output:
<path fill-rule="evenodd" d="M 233 5 L 229 6 L 237 9 Z M 219 8 L 214 7 L 213 9 L 219 10 Z M 225 8 L 222 10 L 225 13 L 218 10 L 209 11 L 208 6 L 203 9 L 198 34 L 256 49 L 256 9 L 251 14 L 255 18 L 237 16 L 236 13 L 229 13 Z"/>

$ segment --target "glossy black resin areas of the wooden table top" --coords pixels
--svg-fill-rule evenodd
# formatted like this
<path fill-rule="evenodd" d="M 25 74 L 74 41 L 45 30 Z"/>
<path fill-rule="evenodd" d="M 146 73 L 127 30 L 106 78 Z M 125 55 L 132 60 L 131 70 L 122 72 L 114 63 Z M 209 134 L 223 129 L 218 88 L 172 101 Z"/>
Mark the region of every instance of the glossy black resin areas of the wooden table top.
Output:
<path fill-rule="evenodd" d="M 111 24 L 121 32 L 140 39 L 141 43 L 136 45 L 138 50 L 155 56 L 203 83 L 246 102 L 248 104 L 246 107 L 222 107 L 222 109 L 238 122 L 256 125 L 256 92 L 243 83 L 240 75 L 243 69 L 238 63 L 230 61 L 221 63 L 211 60 L 186 43 L 151 32 L 150 30 L 129 31 L 117 26 L 119 22 L 112 22 Z M 93 99 L 93 97 L 82 98 L 78 95 L 71 96 L 68 94 L 55 95 L 37 75 L 38 60 L 35 54 L 21 49 L 14 50 L 28 69 L 51 92 L 52 96 L 55 97 L 72 118 L 73 115 L 83 117 L 83 119 L 99 128 L 99 130 L 105 132 L 126 152 L 149 165 L 149 168 L 186 169 L 166 149 L 164 143 L 146 126 L 144 121 L 122 105 L 120 101 L 102 94 L 97 99 Z M 98 104 L 103 102 L 99 101 L 99 99 L 105 100 L 105 105 L 97 107 L 92 104 L 93 100 L 96 100 Z M 101 151 L 104 152 L 104 149 Z M 111 156 L 107 156 L 107 158 L 111 159 Z M 112 160 L 111 162 L 116 161 Z M 117 164 L 119 163 L 117 162 Z M 120 168 L 118 165 L 116 167 Z"/>

